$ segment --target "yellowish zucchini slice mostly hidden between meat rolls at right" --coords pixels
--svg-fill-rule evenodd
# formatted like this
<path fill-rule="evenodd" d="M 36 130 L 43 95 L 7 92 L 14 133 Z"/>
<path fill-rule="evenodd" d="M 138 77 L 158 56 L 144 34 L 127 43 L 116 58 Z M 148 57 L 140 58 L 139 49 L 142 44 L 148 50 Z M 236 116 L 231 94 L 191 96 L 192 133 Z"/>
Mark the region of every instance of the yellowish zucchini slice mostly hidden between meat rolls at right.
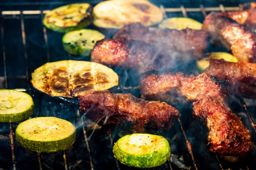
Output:
<path fill-rule="evenodd" d="M 232 54 L 225 52 L 212 52 L 207 54 L 207 58 L 203 58 L 196 62 L 196 65 L 201 71 L 205 71 L 207 67 L 210 65 L 210 59 L 224 59 L 229 62 L 238 62 L 238 59 Z"/>

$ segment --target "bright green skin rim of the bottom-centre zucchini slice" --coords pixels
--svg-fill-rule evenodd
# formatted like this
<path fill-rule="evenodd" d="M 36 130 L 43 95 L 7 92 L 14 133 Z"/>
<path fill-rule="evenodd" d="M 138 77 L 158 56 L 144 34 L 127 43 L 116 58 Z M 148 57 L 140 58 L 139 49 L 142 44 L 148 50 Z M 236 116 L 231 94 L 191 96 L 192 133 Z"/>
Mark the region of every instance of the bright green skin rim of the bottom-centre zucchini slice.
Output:
<path fill-rule="evenodd" d="M 164 140 L 166 145 L 169 146 L 169 142 L 166 139 Z M 117 160 L 119 160 L 122 164 L 137 168 L 157 167 L 160 166 L 161 164 L 164 164 L 168 159 L 171 158 L 170 147 L 166 147 L 165 150 L 158 150 L 157 152 L 150 153 L 148 155 L 133 155 L 124 152 L 118 146 L 118 141 L 113 146 L 113 153 L 114 157 Z"/>

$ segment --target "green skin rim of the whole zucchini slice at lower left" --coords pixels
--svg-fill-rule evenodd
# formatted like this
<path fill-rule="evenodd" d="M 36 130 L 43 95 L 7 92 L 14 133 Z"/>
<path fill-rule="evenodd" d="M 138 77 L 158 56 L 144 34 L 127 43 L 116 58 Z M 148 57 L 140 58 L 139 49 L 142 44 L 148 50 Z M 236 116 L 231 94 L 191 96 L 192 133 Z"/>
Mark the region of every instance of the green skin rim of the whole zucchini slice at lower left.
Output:
<path fill-rule="evenodd" d="M 42 141 L 30 141 L 23 138 L 18 133 L 16 133 L 16 140 L 19 144 L 25 147 L 28 150 L 32 150 L 38 153 L 49 153 L 49 152 L 58 152 L 65 150 L 73 145 L 76 139 L 76 133 L 73 133 L 72 136 L 61 139 L 59 141 L 52 142 L 42 142 Z"/>

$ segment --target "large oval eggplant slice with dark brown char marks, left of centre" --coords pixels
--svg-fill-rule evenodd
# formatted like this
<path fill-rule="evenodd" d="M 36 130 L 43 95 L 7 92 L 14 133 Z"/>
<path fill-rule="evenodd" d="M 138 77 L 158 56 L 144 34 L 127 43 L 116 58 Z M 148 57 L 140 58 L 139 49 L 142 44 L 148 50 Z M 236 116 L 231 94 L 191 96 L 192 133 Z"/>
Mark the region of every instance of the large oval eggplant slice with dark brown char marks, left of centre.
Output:
<path fill-rule="evenodd" d="M 85 91 L 107 90 L 118 85 L 117 74 L 96 62 L 48 62 L 32 73 L 32 85 L 50 96 L 76 97 Z"/>

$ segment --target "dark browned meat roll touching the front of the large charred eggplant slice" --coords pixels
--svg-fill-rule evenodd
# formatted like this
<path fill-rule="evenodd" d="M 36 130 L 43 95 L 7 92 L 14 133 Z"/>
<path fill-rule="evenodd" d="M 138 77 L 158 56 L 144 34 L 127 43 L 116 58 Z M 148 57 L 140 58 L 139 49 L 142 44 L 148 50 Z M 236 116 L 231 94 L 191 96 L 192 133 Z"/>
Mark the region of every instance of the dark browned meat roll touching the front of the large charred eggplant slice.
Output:
<path fill-rule="evenodd" d="M 128 125 L 134 133 L 160 133 L 180 116 L 165 102 L 137 99 L 132 94 L 95 91 L 79 95 L 79 101 L 80 110 L 99 125 Z"/>

